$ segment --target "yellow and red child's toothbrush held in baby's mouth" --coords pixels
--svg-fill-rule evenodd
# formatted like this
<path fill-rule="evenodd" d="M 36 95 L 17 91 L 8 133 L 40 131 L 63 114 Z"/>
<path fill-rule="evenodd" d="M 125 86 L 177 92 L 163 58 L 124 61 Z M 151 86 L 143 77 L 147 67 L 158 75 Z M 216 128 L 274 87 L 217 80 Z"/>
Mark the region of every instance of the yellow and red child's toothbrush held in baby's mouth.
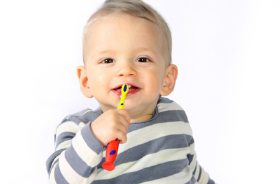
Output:
<path fill-rule="evenodd" d="M 128 85 L 123 84 L 121 89 L 121 99 L 118 104 L 118 109 L 124 109 L 124 102 L 126 99 L 126 95 L 128 93 Z M 117 158 L 118 148 L 119 148 L 120 140 L 115 139 L 110 141 L 106 147 L 106 158 L 105 162 L 102 164 L 103 169 L 107 171 L 112 171 L 115 169 L 114 162 Z"/>

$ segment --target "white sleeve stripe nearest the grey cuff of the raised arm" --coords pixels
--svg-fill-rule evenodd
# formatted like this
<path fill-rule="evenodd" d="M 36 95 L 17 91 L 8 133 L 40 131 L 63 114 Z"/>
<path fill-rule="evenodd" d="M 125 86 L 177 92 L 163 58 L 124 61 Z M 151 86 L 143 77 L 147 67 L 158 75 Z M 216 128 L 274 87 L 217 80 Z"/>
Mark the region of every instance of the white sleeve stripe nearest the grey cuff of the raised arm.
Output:
<path fill-rule="evenodd" d="M 79 157 L 90 167 L 96 166 L 102 159 L 102 153 L 96 154 L 83 139 L 81 132 L 78 132 L 73 138 L 72 146 Z"/>

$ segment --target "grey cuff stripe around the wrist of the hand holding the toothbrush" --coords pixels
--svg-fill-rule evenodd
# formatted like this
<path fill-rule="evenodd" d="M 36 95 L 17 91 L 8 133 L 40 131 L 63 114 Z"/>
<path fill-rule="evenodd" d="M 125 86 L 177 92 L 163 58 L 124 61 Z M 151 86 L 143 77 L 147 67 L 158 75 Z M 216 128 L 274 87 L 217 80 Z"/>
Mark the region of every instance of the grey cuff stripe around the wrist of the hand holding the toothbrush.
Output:
<path fill-rule="evenodd" d="M 81 134 L 88 147 L 97 154 L 104 150 L 104 146 L 98 141 L 94 133 L 91 131 L 90 123 L 82 128 Z"/>

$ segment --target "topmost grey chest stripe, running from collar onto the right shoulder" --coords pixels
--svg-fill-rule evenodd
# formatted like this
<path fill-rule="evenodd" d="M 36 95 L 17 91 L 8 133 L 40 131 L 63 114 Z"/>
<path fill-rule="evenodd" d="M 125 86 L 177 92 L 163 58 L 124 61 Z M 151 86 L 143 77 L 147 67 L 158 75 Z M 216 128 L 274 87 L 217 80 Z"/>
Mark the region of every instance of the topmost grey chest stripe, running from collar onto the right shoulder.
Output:
<path fill-rule="evenodd" d="M 183 110 L 171 110 L 171 111 L 156 113 L 155 116 L 148 122 L 130 124 L 128 132 L 133 132 L 135 130 L 158 123 L 175 122 L 175 121 L 183 121 L 188 123 L 188 118 L 186 116 L 186 113 Z"/>

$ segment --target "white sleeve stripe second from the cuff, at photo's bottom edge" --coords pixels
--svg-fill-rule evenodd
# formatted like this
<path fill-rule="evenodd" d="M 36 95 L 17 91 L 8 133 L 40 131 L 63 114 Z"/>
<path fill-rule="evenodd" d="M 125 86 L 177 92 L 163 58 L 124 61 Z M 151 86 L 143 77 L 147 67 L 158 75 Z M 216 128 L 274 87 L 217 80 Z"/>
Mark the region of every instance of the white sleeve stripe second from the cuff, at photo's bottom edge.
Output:
<path fill-rule="evenodd" d="M 70 166 L 65 158 L 65 152 L 62 152 L 59 159 L 60 171 L 68 183 L 81 183 L 86 178 L 76 173 L 76 171 Z"/>

